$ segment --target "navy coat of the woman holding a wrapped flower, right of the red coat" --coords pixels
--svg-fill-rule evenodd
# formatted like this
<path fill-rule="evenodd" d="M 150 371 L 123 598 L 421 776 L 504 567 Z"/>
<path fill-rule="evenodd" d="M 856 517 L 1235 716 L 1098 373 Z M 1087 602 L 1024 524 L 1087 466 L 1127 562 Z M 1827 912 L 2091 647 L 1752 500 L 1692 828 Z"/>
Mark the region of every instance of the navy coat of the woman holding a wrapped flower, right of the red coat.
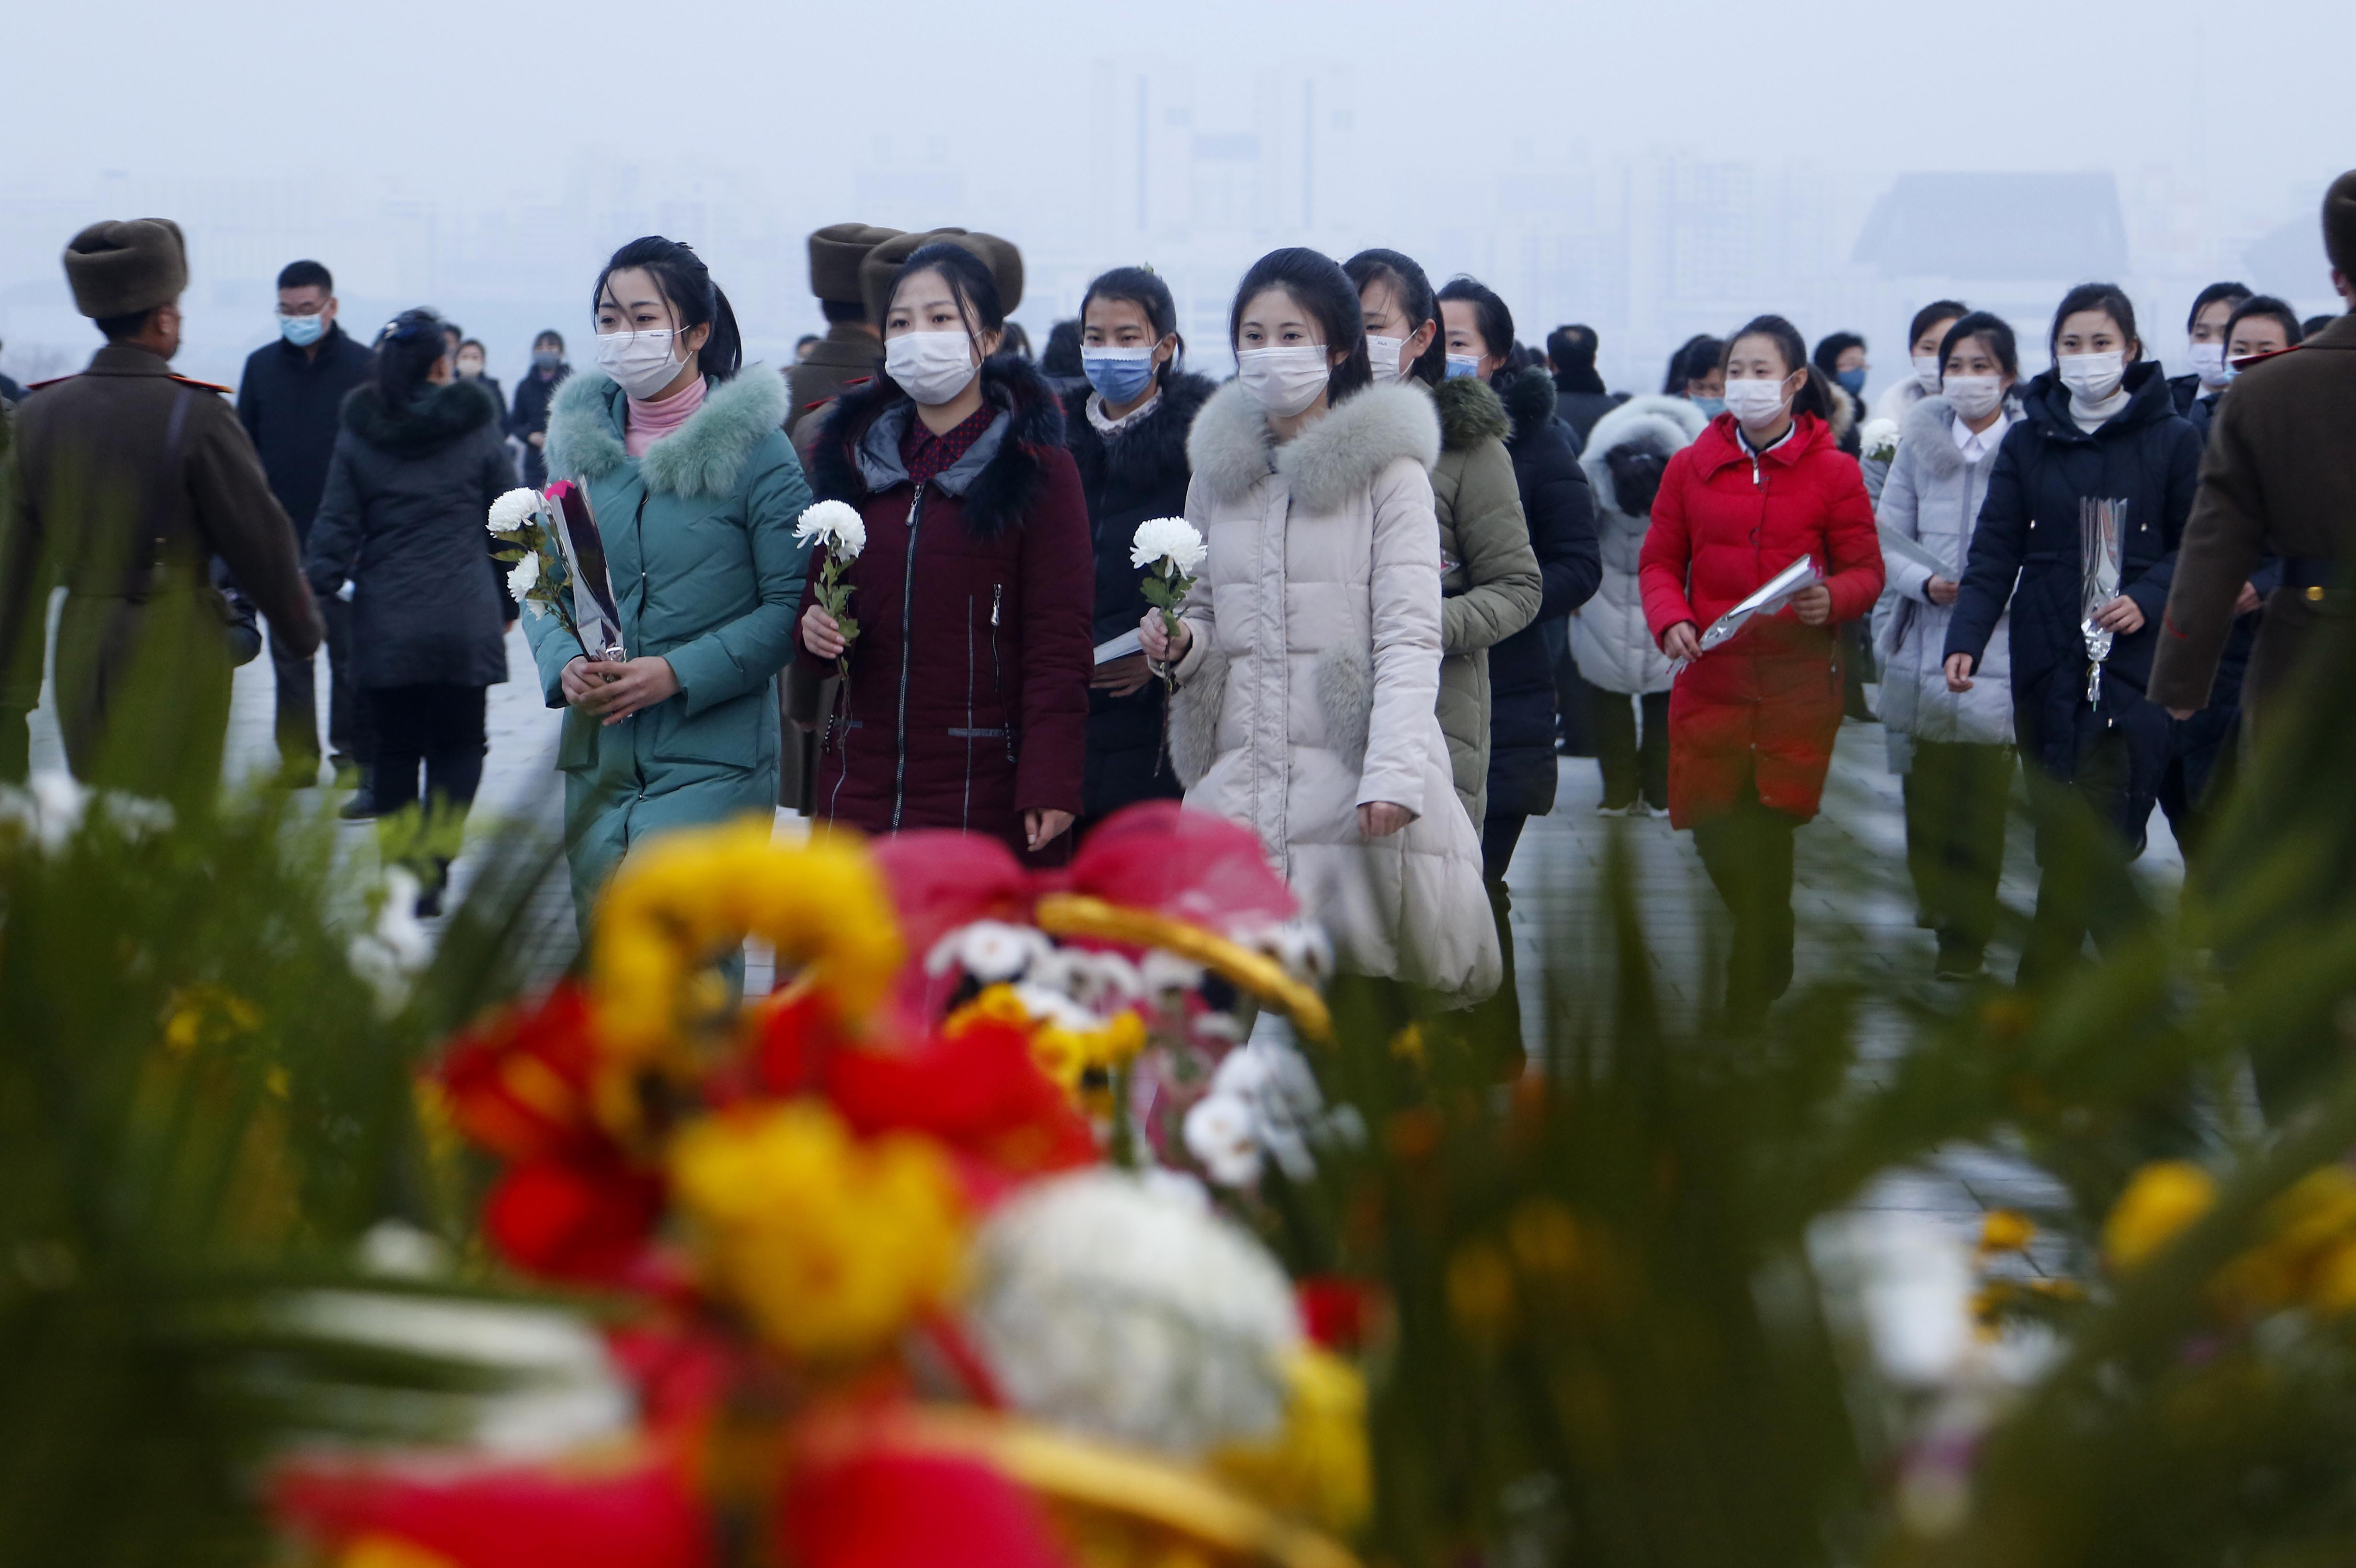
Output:
<path fill-rule="evenodd" d="M 2052 370 L 2029 384 L 2024 417 L 2005 431 L 1996 452 L 1946 631 L 1948 655 L 1979 659 L 1996 619 L 2012 605 L 2014 727 L 2021 749 L 2057 779 L 2076 777 L 2090 737 L 2083 723 L 2090 709 L 2085 636 L 2078 629 L 2078 504 L 2127 501 L 2118 582 L 2142 607 L 2144 626 L 2111 645 L 2102 680 L 2111 711 L 2102 718 L 2149 718 L 2137 709 L 2144 706 L 2177 539 L 2201 476 L 2201 436 L 2177 414 L 2158 363 L 2130 365 L 2125 386 L 2127 407 L 2087 433 L 2071 419 L 2069 388 Z"/>

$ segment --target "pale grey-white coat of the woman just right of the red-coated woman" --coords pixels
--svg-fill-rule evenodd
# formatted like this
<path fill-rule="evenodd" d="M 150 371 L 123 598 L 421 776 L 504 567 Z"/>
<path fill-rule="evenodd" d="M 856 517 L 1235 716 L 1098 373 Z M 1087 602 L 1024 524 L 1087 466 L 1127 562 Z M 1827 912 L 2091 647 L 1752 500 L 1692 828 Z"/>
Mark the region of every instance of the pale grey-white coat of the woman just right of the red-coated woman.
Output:
<path fill-rule="evenodd" d="M 1906 410 L 1899 454 L 1890 461 L 1875 518 L 1948 563 L 1939 574 L 1960 582 L 1979 504 L 1988 497 L 1988 476 L 1996 473 L 2003 426 L 1988 431 L 1988 454 L 1977 464 L 1963 461 L 1953 426 L 1955 410 L 1946 398 L 1920 398 Z M 1882 567 L 1890 577 L 1890 614 L 1878 617 L 1875 647 L 1882 655 L 1880 720 L 1890 742 L 1890 770 L 1913 768 L 1918 739 L 2010 746 L 2012 669 L 2005 622 L 1998 622 L 1998 636 L 1988 638 L 1988 652 L 1972 671 L 1972 690 L 1951 692 L 1944 655 L 1953 605 L 1930 603 L 1922 586 L 1932 572 L 1887 544 Z"/>

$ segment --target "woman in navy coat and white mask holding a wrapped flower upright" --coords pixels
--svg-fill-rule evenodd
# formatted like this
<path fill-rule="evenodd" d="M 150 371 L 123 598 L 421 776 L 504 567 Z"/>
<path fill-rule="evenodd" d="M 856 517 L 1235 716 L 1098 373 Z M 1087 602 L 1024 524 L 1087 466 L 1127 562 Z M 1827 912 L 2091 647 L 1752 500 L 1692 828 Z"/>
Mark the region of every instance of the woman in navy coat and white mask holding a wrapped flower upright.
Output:
<path fill-rule="evenodd" d="M 2083 283 L 2064 294 L 2050 346 L 2054 367 L 2029 381 L 2021 419 L 1996 452 L 1946 629 L 1946 683 L 1970 692 L 1986 678 L 1979 657 L 2010 605 L 2021 756 L 2047 779 L 2073 786 L 2118 833 L 2120 850 L 2135 852 L 2168 746 L 2168 713 L 2144 699 L 2144 683 L 2170 560 L 2193 504 L 2201 433 L 2175 412 L 2160 365 L 2144 358 L 2135 337 L 2135 306 L 2116 285 Z M 2080 626 L 2087 501 L 2125 504 L 2118 593 L 2092 617 L 2111 633 L 2094 673 Z M 2087 883 L 2083 843 L 2066 817 L 2040 812 L 2045 878 L 2021 954 L 2024 984 L 2076 961 L 2090 930 L 2116 932 L 2137 911 L 2123 881 Z"/>

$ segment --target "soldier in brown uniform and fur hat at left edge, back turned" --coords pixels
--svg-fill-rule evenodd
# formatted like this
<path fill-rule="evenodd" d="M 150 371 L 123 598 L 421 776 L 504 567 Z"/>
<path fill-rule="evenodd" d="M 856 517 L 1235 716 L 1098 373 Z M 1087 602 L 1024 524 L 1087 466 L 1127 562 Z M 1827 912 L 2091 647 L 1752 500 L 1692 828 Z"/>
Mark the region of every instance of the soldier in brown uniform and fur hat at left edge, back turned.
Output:
<path fill-rule="evenodd" d="M 66 283 L 106 346 L 16 410 L 0 725 L 24 735 L 49 589 L 64 584 L 57 725 L 73 775 L 203 805 L 221 779 L 236 631 L 214 558 L 302 652 L 318 645 L 318 605 L 229 388 L 172 374 L 188 285 L 179 224 L 92 224 L 66 247 Z M 7 749 L 21 772 L 21 746 Z"/>

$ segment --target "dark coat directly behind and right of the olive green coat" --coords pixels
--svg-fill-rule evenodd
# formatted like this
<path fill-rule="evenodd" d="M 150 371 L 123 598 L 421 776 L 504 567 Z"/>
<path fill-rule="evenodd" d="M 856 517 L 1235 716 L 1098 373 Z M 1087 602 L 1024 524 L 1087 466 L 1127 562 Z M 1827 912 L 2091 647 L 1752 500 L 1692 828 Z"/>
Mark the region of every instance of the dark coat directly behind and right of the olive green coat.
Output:
<path fill-rule="evenodd" d="M 1555 810 L 1555 657 L 1564 619 L 1595 596 L 1602 551 L 1595 544 L 1595 492 L 1555 417 L 1555 384 L 1543 370 L 1498 377 L 1513 417 L 1505 454 L 1529 518 L 1546 591 L 1538 617 L 1489 647 L 1489 815 L 1543 817 Z"/>

